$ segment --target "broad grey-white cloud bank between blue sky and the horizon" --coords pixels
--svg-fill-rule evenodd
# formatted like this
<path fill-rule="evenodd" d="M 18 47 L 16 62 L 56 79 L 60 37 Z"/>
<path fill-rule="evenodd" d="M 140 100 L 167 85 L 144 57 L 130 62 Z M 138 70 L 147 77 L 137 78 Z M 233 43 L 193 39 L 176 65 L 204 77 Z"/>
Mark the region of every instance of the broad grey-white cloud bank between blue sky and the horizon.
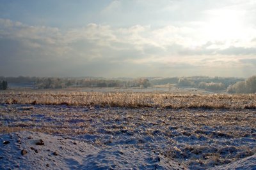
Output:
<path fill-rule="evenodd" d="M 172 72 L 179 76 L 186 71 L 246 67 L 246 59 L 255 59 L 252 39 L 239 46 L 239 40 L 209 41 L 197 35 L 197 29 L 187 26 L 92 23 L 60 29 L 0 19 L 0 72 L 15 76 L 168 76 Z"/>

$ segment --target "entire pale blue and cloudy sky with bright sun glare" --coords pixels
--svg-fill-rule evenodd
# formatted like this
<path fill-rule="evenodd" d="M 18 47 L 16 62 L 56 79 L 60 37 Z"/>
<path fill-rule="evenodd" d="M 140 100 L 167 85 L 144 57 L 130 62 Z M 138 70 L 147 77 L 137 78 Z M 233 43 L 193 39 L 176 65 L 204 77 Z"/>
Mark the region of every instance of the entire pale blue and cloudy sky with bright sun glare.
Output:
<path fill-rule="evenodd" d="M 255 73 L 254 0 L 0 3 L 0 76 Z"/>

